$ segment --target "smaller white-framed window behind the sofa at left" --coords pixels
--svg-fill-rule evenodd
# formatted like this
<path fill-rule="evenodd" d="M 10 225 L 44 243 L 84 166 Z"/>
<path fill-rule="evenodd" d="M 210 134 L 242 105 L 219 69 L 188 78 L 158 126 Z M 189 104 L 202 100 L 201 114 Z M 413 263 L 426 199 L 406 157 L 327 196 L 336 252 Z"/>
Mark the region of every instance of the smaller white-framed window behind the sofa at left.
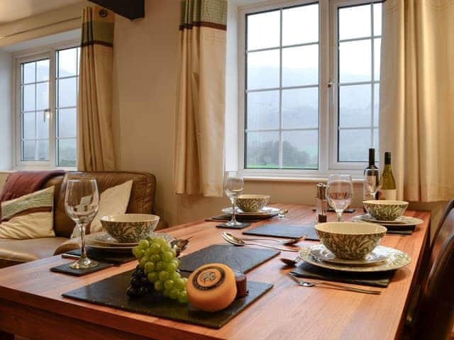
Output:
<path fill-rule="evenodd" d="M 17 166 L 76 166 L 77 46 L 16 56 Z"/>

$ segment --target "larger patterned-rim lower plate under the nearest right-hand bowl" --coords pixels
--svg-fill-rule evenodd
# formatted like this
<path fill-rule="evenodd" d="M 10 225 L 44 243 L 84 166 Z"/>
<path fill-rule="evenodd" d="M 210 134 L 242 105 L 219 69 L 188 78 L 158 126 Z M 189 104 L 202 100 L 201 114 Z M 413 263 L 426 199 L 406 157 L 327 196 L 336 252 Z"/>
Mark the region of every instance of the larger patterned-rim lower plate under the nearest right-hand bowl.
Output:
<path fill-rule="evenodd" d="M 333 271 L 350 271 L 371 273 L 377 271 L 394 271 L 395 269 L 402 268 L 411 262 L 411 258 L 404 251 L 400 251 L 387 246 L 377 246 L 380 254 L 386 254 L 386 259 L 375 266 L 345 266 L 344 264 L 327 263 L 321 259 L 316 258 L 311 254 L 311 246 L 301 247 L 299 257 L 314 266 L 321 268 L 331 269 Z"/>

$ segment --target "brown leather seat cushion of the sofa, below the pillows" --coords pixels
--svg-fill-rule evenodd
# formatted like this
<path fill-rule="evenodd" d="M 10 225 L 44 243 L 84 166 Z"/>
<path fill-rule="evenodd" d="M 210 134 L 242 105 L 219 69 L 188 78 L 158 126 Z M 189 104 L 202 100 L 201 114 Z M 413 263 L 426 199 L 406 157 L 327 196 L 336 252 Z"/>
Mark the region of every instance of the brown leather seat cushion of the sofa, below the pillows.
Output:
<path fill-rule="evenodd" d="M 65 237 L 43 239 L 0 239 L 0 261 L 23 263 L 52 256 Z"/>

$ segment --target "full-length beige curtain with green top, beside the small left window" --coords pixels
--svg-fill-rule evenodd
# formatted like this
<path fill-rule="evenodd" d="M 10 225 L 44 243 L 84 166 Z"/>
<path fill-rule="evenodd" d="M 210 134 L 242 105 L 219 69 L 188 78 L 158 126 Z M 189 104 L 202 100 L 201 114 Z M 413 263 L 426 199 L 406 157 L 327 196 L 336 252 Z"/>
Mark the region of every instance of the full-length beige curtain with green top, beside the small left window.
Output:
<path fill-rule="evenodd" d="M 77 167 L 81 171 L 115 168 L 112 136 L 112 46 L 114 13 L 99 6 L 82 12 Z"/>

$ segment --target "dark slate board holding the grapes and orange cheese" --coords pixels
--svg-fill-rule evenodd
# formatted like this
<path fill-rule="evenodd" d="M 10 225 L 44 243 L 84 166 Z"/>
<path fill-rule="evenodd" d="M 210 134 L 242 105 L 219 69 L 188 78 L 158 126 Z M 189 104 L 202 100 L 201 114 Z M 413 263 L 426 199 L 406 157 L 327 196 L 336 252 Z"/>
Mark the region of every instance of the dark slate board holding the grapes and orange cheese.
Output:
<path fill-rule="evenodd" d="M 63 296 L 96 305 L 114 307 L 128 312 L 147 314 L 153 317 L 162 317 L 219 329 L 272 288 L 270 283 L 249 281 L 248 295 L 237 298 L 230 306 L 218 312 L 203 312 L 195 310 L 190 305 L 180 304 L 175 300 L 170 300 L 157 293 L 149 293 L 145 297 L 139 297 L 137 299 L 128 298 L 126 288 L 128 288 L 129 281 L 131 280 L 131 273 L 132 271 L 128 271 L 111 276 L 91 285 L 71 290 L 63 294 Z"/>

